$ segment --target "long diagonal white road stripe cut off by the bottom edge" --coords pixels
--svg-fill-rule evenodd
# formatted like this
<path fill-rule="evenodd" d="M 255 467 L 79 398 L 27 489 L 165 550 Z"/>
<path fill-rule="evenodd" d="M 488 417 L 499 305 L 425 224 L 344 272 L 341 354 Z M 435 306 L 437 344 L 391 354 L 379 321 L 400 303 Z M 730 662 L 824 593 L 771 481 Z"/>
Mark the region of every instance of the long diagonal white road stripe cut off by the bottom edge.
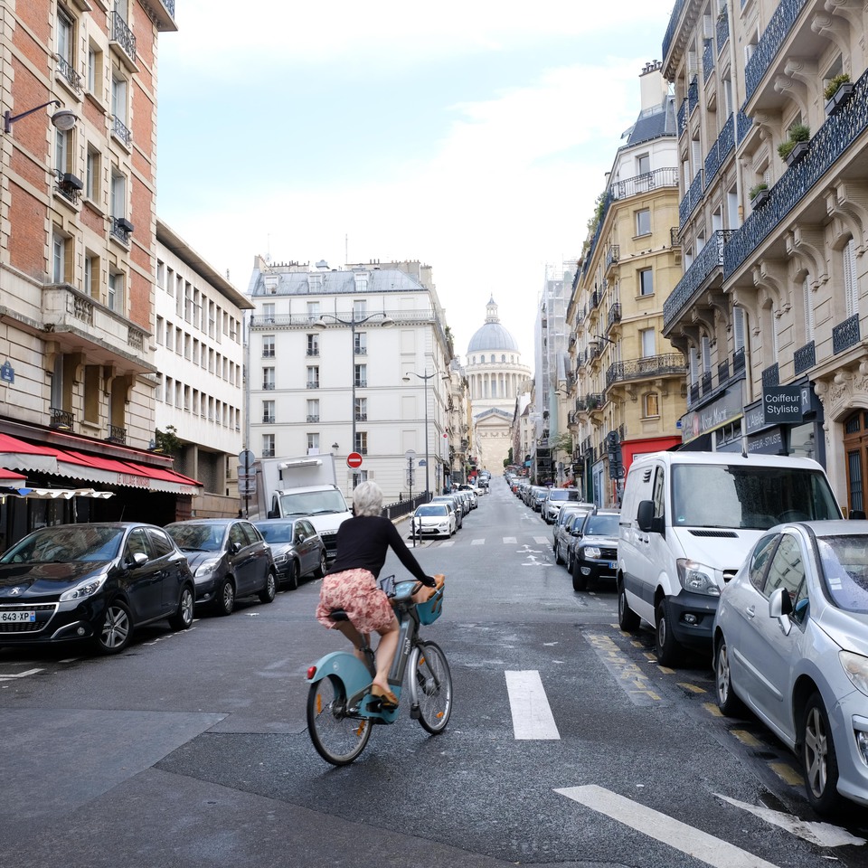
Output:
<path fill-rule="evenodd" d="M 609 789 L 590 784 L 587 787 L 556 789 L 555 792 L 590 807 L 599 814 L 610 816 L 618 823 L 636 829 L 662 844 L 668 844 L 680 853 L 712 865 L 713 868 L 777 868 L 775 864 L 766 862 L 747 850 L 741 850 L 740 847 L 715 838 L 714 835 L 680 823 L 671 816 L 640 805 L 631 798 L 618 796 Z"/>

